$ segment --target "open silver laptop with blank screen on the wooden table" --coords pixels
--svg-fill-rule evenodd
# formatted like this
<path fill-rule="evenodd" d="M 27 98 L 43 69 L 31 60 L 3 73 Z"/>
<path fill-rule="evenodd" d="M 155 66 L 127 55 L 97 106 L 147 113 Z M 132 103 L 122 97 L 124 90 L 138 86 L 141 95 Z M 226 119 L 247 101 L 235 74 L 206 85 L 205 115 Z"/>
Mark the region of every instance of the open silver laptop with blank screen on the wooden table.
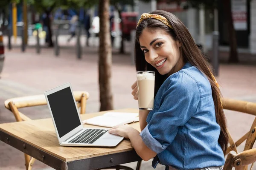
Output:
<path fill-rule="evenodd" d="M 70 83 L 44 92 L 58 141 L 63 146 L 113 147 L 123 137 L 108 133 L 108 128 L 85 128 Z"/>

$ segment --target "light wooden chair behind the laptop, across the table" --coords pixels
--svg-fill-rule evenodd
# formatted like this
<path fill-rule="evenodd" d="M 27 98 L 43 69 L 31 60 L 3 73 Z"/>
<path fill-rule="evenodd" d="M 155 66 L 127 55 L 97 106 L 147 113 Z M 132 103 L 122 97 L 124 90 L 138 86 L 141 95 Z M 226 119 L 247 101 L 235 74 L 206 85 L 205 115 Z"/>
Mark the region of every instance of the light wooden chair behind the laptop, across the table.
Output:
<path fill-rule="evenodd" d="M 77 102 L 77 107 L 81 108 L 80 113 L 84 114 L 86 111 L 86 102 L 90 96 L 89 93 L 87 91 L 73 91 L 73 94 Z M 45 96 L 41 94 L 41 95 L 35 95 L 35 96 L 24 96 L 24 97 L 7 99 L 4 102 L 4 105 L 9 111 L 12 111 L 16 121 L 21 122 L 21 121 L 27 121 L 31 119 L 28 116 L 21 113 L 20 111 L 18 111 L 19 108 L 47 105 L 47 102 L 46 102 Z M 30 157 L 27 154 L 24 154 L 24 155 L 25 155 L 26 170 L 31 170 L 32 164 L 35 162 L 35 158 Z"/>

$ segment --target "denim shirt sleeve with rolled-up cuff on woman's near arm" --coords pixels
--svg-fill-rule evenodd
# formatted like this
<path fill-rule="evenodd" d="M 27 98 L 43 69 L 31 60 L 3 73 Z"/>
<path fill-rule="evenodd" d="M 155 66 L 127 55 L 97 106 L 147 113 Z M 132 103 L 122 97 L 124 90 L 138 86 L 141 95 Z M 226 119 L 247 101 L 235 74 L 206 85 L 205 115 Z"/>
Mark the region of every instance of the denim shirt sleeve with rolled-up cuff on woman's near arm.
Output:
<path fill-rule="evenodd" d="M 148 125 L 140 133 L 146 146 L 156 153 L 172 144 L 179 127 L 192 117 L 200 102 L 198 84 L 188 74 L 179 71 L 166 81 L 168 87 L 159 90 L 160 98 L 156 96 L 160 99 L 160 107 L 154 108 Z"/>

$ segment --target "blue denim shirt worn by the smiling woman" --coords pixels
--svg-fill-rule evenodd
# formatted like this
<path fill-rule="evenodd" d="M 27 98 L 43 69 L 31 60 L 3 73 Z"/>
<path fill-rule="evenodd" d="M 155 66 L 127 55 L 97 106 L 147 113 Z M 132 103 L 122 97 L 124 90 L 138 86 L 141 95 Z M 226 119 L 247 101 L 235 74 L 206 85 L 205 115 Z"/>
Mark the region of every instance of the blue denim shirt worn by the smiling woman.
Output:
<path fill-rule="evenodd" d="M 189 62 L 161 85 L 146 121 L 140 136 L 157 153 L 152 167 L 161 163 L 190 170 L 224 165 L 211 85 Z"/>

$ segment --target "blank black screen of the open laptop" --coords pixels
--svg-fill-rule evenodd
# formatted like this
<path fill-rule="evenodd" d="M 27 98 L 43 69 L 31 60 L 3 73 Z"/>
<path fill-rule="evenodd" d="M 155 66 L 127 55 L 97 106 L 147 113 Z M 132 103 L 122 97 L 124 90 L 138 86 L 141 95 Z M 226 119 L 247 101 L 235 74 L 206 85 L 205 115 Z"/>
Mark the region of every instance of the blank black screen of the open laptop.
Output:
<path fill-rule="evenodd" d="M 47 95 L 60 138 L 81 125 L 70 87 Z"/>

